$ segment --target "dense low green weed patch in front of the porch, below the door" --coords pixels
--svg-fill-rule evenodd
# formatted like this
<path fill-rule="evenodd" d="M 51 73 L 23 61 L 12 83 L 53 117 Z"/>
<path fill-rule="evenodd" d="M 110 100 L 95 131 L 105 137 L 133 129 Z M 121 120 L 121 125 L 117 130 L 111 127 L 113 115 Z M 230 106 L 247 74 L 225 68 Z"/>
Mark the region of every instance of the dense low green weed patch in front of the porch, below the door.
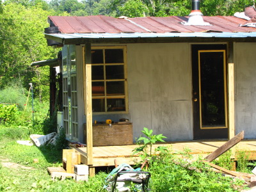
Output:
<path fill-rule="evenodd" d="M 187 153 L 184 152 L 185 155 Z M 241 186 L 241 181 L 234 183 L 232 179 L 223 177 L 220 173 L 211 172 L 200 159 L 192 161 L 193 159 L 187 155 L 186 158 L 187 161 L 184 164 L 184 159 L 180 156 L 173 156 L 172 152 L 160 154 L 148 170 L 152 175 L 151 190 L 220 191 L 221 189 L 221 191 L 236 191 L 231 188 L 231 184 Z"/>

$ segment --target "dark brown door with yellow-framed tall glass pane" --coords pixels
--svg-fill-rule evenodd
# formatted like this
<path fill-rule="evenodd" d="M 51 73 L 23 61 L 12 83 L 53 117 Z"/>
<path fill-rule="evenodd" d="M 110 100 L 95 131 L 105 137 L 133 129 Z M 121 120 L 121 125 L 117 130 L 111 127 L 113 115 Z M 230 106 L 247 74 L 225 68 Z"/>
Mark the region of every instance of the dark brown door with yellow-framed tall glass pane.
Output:
<path fill-rule="evenodd" d="M 192 45 L 194 140 L 227 138 L 226 45 Z"/>

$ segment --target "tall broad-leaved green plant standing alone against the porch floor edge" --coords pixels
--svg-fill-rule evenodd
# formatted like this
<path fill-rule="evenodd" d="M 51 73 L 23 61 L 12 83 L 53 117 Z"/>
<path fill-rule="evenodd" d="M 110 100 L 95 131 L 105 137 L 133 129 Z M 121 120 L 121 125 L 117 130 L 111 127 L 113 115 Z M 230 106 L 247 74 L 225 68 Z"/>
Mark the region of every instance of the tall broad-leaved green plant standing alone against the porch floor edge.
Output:
<path fill-rule="evenodd" d="M 153 134 L 153 130 L 150 129 L 148 130 L 147 127 L 143 128 L 143 134 L 145 134 L 146 137 L 140 136 L 140 138 L 138 138 L 137 143 L 138 145 L 141 145 L 140 147 L 136 147 L 134 148 L 132 156 L 134 154 L 139 154 L 141 159 L 146 159 L 147 157 L 152 157 L 152 146 L 156 143 L 156 142 L 165 142 L 163 139 L 166 138 L 166 136 L 163 136 L 163 134 Z M 155 153 L 156 152 L 164 152 L 165 150 L 167 150 L 166 147 L 164 146 L 159 146 L 155 149 Z"/>

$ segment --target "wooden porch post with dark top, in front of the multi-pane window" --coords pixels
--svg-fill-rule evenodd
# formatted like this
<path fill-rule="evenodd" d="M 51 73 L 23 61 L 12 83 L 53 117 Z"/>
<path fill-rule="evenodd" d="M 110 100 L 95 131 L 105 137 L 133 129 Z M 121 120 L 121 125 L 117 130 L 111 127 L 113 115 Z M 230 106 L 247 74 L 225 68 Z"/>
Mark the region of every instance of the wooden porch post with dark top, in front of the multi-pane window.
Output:
<path fill-rule="evenodd" d="M 93 164 L 93 142 L 92 142 L 92 64 L 91 44 L 85 44 L 85 111 L 86 111 L 86 153 L 88 165 Z M 91 171 L 91 175 L 94 173 Z"/>

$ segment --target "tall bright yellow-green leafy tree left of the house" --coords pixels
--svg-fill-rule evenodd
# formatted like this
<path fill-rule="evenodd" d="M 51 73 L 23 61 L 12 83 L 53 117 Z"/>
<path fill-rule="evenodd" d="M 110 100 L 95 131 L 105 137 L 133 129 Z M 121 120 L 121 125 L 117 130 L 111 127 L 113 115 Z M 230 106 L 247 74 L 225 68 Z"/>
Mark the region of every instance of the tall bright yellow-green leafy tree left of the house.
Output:
<path fill-rule="evenodd" d="M 49 70 L 31 67 L 31 63 L 56 58 L 58 50 L 47 47 L 44 38 L 44 28 L 49 27 L 47 16 L 54 13 L 44 10 L 41 3 L 28 6 L 24 1 L 24 4 L 6 1 L 0 15 L 0 88 L 17 82 L 29 88 L 28 83 L 33 83 L 35 96 L 49 97 L 49 81 L 45 83 Z"/>

